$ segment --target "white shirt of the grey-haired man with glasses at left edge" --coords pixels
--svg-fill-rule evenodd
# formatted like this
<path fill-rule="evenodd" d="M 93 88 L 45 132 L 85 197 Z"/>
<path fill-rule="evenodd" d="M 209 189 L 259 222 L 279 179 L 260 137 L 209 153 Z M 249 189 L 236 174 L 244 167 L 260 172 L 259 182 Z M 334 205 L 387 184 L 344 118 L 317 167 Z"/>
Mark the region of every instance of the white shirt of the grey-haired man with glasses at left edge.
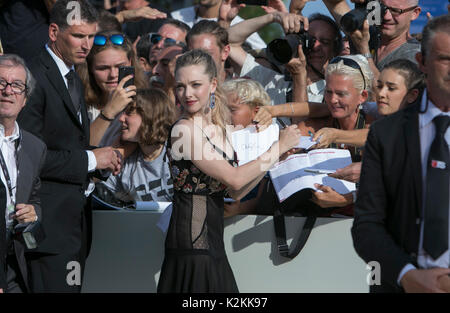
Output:
<path fill-rule="evenodd" d="M 3 170 L 0 170 L 1 179 L 6 189 L 6 210 L 5 220 L 6 229 L 8 230 L 13 219 L 9 218 L 9 214 L 14 212 L 14 207 L 11 207 L 12 211 L 8 210 L 8 206 L 16 203 L 16 183 L 17 183 L 17 163 L 16 163 L 16 146 L 15 141 L 19 139 L 20 131 L 17 122 L 14 123 L 14 131 L 11 136 L 5 137 L 5 128 L 0 124 L 0 150 L 2 151 L 3 158 L 5 159 L 6 168 L 8 169 L 8 175 L 11 180 L 12 194 L 9 193 L 8 184 L 6 182 Z"/>

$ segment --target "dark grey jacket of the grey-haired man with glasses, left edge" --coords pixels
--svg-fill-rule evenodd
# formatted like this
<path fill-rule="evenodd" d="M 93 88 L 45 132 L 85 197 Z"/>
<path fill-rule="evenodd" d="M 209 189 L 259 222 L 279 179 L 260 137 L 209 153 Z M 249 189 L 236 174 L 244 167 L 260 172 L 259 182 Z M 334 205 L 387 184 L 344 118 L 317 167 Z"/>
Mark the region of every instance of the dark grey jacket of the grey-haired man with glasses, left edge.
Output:
<path fill-rule="evenodd" d="M 38 215 L 39 220 L 42 219 L 41 204 L 38 197 L 38 190 L 41 186 L 39 174 L 45 161 L 45 154 L 45 144 L 32 134 L 22 130 L 20 142 L 17 147 L 18 176 L 16 182 L 16 203 L 32 204 L 34 206 L 34 209 L 36 210 L 36 214 Z M 2 201 L 3 203 L 0 205 L 0 234 L 2 234 L 2 236 L 0 236 L 2 256 L 0 263 L 2 263 L 2 265 L 4 266 L 6 263 L 5 259 L 7 252 L 4 236 L 4 234 L 6 233 L 4 218 L 6 209 L 6 188 L 1 182 L 0 184 L 2 185 L 0 192 L 3 195 L 3 197 L 0 196 L 0 199 L 5 199 L 5 201 Z M 27 266 L 24 256 L 26 247 L 24 246 L 22 241 L 14 240 L 14 250 L 16 253 L 20 271 L 22 273 L 22 277 L 24 277 L 25 285 L 29 290 Z M 2 267 L 2 269 L 3 268 L 4 267 Z M 0 273 L 0 277 L 4 274 L 5 271 L 2 270 Z M 3 288 L 5 288 L 6 278 L 4 278 L 3 281 L 0 278 L 0 283 L 3 283 Z M 1 287 L 2 285 L 0 285 L 0 288 Z"/>

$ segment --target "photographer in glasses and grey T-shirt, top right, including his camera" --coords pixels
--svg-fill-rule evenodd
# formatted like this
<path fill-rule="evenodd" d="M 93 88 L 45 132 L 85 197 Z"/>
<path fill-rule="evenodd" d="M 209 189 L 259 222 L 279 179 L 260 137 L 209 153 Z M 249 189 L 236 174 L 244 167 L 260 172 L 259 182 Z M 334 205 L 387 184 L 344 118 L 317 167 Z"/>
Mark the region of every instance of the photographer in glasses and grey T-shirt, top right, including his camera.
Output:
<path fill-rule="evenodd" d="M 417 63 L 415 55 L 420 51 L 420 43 L 411 38 L 409 28 L 421 11 L 418 0 L 351 1 L 355 3 L 354 10 L 350 10 L 345 0 L 323 0 L 350 36 L 356 50 L 352 53 L 360 53 L 368 59 L 375 79 L 379 71 L 394 60 L 407 59 Z M 376 11 L 369 13 L 372 6 Z M 372 27 L 373 31 L 366 20 L 368 14 L 380 18 L 381 25 Z"/>

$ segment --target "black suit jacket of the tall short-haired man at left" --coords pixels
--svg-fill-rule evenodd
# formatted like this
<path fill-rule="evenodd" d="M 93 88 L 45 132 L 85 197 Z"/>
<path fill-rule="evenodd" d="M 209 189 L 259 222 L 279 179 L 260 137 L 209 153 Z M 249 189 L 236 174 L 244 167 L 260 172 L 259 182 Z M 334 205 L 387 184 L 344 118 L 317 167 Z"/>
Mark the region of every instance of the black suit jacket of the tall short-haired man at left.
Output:
<path fill-rule="evenodd" d="M 18 123 L 42 139 L 48 149 L 39 191 L 46 239 L 37 251 L 78 254 L 84 231 L 84 191 L 89 182 L 86 106 L 82 99 L 80 124 L 63 77 L 45 48 L 29 68 L 37 85 Z M 84 95 L 78 76 L 77 80 L 80 95 Z"/>

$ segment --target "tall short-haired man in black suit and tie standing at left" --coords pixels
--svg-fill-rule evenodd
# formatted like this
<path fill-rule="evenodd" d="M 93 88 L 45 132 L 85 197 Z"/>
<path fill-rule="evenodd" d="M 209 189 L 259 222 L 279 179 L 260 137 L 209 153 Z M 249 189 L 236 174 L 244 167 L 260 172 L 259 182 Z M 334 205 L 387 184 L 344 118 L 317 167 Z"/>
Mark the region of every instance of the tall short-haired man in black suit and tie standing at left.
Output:
<path fill-rule="evenodd" d="M 97 169 L 120 168 L 111 147 L 89 146 L 84 89 L 74 71 L 92 47 L 97 16 L 87 0 L 58 0 L 50 12 L 49 43 L 30 64 L 37 85 L 18 122 L 48 148 L 39 192 L 47 236 L 30 258 L 34 292 L 81 291 L 90 178 Z"/>

